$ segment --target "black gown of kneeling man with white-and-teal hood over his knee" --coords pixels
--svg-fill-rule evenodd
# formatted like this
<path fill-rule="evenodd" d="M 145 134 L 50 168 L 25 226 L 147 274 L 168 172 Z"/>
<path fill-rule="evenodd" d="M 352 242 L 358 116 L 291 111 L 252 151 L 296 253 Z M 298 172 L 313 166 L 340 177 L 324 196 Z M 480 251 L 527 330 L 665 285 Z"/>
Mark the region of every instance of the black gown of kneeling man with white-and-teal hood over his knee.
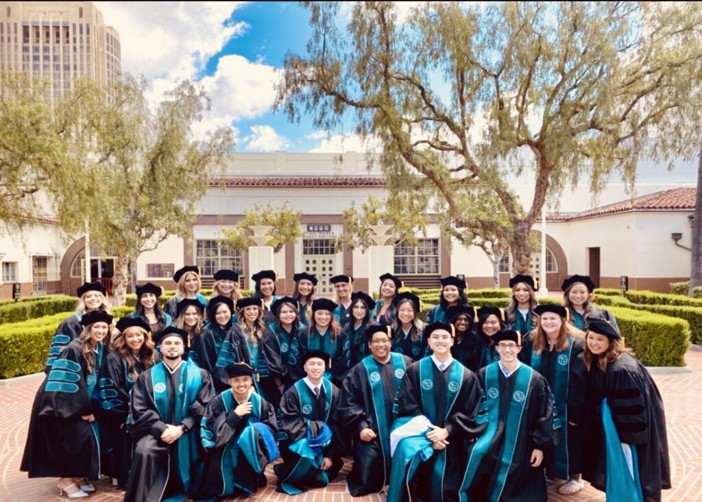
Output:
<path fill-rule="evenodd" d="M 402 385 L 395 398 L 396 418 L 427 415 L 428 413 L 424 409 L 421 396 L 420 362 L 421 360 L 414 362 L 404 374 Z M 431 363 L 432 379 L 436 389 L 437 416 L 441 417 L 435 425 L 449 430 L 449 437 L 446 438 L 449 445 L 445 449 L 446 468 L 442 486 L 443 502 L 458 501 L 458 489 L 461 487 L 461 481 L 463 480 L 465 462 L 468 459 L 468 454 L 470 449 L 472 449 L 475 438 L 485 428 L 484 425 L 475 421 L 480 405 L 480 386 L 475 373 L 469 369 L 464 369 L 461 390 L 458 391 L 456 400 L 454 400 L 453 406 L 449 409 L 448 416 L 446 416 L 446 419 L 443 418 L 446 415 L 446 378 L 451 366 L 455 364 L 461 363 L 453 360 L 442 374 L 434 362 Z M 443 415 L 442 411 L 444 411 Z M 420 465 L 416 475 L 418 484 L 413 489 L 413 492 L 416 491 L 416 493 L 413 493 L 412 500 L 415 500 L 416 495 L 416 500 L 420 502 L 432 501 L 432 483 L 425 480 L 430 479 L 438 458 L 439 456 L 434 454 L 431 459 Z M 406 500 L 406 498 L 407 494 L 405 493 L 403 494 L 403 500 Z"/>

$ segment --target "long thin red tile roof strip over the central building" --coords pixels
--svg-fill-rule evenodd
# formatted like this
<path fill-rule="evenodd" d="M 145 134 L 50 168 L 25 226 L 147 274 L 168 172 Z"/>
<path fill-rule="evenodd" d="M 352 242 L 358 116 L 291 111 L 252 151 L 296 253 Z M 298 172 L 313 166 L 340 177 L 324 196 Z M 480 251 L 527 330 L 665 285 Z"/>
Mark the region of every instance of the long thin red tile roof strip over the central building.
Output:
<path fill-rule="evenodd" d="M 238 176 L 212 178 L 210 186 L 385 186 L 385 179 L 378 176 Z"/>

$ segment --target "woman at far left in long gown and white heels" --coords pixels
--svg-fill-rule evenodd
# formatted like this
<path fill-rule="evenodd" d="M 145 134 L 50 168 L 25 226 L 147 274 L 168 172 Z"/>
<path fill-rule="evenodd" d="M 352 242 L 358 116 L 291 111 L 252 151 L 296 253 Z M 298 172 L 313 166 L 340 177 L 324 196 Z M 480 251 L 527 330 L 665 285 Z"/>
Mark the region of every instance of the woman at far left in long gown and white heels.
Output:
<path fill-rule="evenodd" d="M 58 489 L 71 498 L 95 491 L 87 480 L 100 477 L 100 405 L 93 400 L 112 316 L 101 310 L 81 317 L 84 329 L 51 365 L 32 405 L 20 470 L 29 477 L 60 477 Z"/>

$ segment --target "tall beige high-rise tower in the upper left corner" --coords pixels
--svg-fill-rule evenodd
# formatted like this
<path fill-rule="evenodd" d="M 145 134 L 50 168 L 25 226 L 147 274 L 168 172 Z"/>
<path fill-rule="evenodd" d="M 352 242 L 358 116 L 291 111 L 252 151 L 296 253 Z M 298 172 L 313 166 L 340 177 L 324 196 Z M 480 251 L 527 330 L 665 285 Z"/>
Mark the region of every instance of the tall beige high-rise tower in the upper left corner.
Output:
<path fill-rule="evenodd" d="M 121 72 L 119 34 L 84 1 L 0 1 L 0 72 L 27 72 L 60 97 L 88 76 L 100 85 Z"/>

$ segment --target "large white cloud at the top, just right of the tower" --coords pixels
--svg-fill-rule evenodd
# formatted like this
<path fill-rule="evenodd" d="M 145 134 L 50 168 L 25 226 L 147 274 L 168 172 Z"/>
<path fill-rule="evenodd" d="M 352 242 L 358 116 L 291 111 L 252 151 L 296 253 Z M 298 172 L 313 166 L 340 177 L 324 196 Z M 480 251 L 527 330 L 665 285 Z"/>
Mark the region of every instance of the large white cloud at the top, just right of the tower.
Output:
<path fill-rule="evenodd" d="M 95 2 L 121 42 L 122 68 L 147 79 L 192 79 L 246 23 L 225 22 L 245 2 Z"/>

